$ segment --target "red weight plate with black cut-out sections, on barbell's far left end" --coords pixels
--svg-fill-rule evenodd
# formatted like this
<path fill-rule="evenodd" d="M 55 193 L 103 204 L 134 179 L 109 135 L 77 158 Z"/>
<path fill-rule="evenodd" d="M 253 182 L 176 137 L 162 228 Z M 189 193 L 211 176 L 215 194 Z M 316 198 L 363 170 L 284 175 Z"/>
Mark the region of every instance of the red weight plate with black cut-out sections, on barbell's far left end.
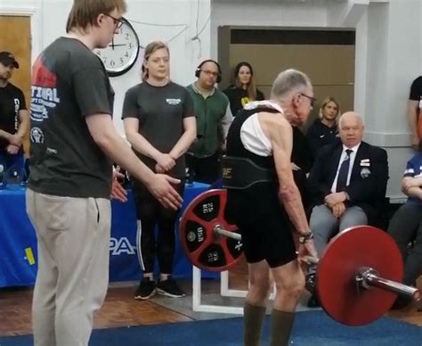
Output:
<path fill-rule="evenodd" d="M 183 251 L 198 268 L 227 270 L 242 254 L 241 242 L 214 233 L 216 225 L 231 232 L 239 232 L 235 225 L 224 219 L 226 200 L 225 190 L 208 190 L 194 198 L 180 218 L 179 235 Z"/>

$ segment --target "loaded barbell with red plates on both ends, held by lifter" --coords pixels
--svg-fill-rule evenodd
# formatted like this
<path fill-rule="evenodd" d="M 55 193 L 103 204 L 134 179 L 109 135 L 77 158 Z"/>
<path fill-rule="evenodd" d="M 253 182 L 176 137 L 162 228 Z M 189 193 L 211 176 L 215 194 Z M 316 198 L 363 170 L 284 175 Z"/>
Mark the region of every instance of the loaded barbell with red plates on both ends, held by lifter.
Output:
<path fill-rule="evenodd" d="M 204 270 L 223 271 L 242 255 L 239 228 L 224 218 L 223 189 L 199 194 L 180 219 L 183 251 Z M 350 227 L 333 237 L 321 259 L 305 256 L 306 287 L 321 307 L 344 325 L 366 325 L 391 308 L 397 294 L 420 300 L 415 287 L 401 284 L 402 255 L 393 238 L 369 226 Z"/>

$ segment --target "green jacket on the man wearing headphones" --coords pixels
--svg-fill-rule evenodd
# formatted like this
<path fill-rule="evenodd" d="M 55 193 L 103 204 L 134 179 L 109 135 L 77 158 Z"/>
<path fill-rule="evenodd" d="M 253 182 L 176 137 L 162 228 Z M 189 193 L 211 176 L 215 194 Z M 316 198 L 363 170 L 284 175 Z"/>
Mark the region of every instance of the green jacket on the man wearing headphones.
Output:
<path fill-rule="evenodd" d="M 217 89 L 206 99 L 193 84 L 187 86 L 187 89 L 193 100 L 198 137 L 188 152 L 199 158 L 211 156 L 225 140 L 233 119 L 229 99 Z"/>

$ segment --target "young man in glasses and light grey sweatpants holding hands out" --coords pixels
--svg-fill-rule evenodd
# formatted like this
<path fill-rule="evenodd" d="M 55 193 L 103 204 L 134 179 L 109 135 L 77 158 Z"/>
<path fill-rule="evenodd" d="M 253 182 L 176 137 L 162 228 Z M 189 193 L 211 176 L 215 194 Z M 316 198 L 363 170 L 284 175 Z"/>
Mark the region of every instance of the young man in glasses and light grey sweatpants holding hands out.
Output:
<path fill-rule="evenodd" d="M 67 35 L 33 66 L 26 202 L 38 242 L 36 346 L 88 344 L 109 283 L 111 161 L 165 206 L 181 206 L 170 185 L 180 181 L 154 174 L 113 126 L 114 93 L 92 50 L 110 44 L 125 11 L 125 0 L 75 0 Z"/>

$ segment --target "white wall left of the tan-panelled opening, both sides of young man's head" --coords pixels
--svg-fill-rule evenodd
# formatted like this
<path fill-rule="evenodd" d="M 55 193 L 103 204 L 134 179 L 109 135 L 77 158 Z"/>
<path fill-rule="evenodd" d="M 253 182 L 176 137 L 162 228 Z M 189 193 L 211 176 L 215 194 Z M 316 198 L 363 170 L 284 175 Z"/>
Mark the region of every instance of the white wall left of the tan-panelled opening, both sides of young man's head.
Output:
<path fill-rule="evenodd" d="M 131 21 L 141 45 L 162 40 L 170 48 L 170 69 L 174 82 L 188 85 L 194 80 L 194 70 L 210 56 L 209 0 L 126 0 L 126 19 Z M 53 40 L 65 33 L 72 0 L 1 0 L 0 13 L 32 16 L 32 62 Z M 198 12 L 199 4 L 199 12 Z M 203 29 L 198 39 L 198 31 Z M 179 24 L 177 26 L 174 26 Z M 114 123 L 124 136 L 121 111 L 123 98 L 130 86 L 140 82 L 143 50 L 132 70 L 123 76 L 111 78 L 116 92 Z"/>

